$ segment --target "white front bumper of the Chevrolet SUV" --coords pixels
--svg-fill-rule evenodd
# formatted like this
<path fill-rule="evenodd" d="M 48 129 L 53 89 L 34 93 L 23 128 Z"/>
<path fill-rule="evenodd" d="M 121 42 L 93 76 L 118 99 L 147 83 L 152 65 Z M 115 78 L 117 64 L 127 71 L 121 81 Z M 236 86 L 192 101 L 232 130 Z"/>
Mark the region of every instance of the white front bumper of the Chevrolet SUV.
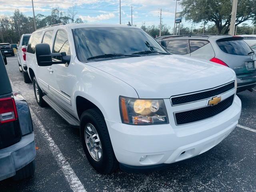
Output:
<path fill-rule="evenodd" d="M 220 114 L 182 126 L 133 126 L 108 120 L 106 124 L 118 162 L 152 166 L 178 162 L 208 151 L 234 130 L 240 113 L 241 101 L 235 96 L 232 106 Z"/>

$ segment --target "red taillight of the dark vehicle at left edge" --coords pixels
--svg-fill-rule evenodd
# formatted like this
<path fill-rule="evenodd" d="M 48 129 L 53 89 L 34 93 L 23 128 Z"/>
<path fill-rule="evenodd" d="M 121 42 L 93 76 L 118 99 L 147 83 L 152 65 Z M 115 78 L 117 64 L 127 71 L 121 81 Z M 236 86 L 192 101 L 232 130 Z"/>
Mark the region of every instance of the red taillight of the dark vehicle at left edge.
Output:
<path fill-rule="evenodd" d="M 0 123 L 7 123 L 18 119 L 14 98 L 0 99 Z"/>

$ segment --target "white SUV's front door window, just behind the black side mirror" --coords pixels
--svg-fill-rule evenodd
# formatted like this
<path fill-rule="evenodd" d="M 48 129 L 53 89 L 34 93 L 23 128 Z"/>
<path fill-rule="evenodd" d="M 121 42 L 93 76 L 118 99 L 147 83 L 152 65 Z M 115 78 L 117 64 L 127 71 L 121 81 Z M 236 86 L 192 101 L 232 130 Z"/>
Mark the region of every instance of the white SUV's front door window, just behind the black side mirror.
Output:
<path fill-rule="evenodd" d="M 68 42 L 68 35 L 64 30 L 58 30 L 53 47 L 54 53 L 66 52 L 66 55 L 70 55 L 70 48 Z M 61 60 L 60 56 L 53 57 Z"/>

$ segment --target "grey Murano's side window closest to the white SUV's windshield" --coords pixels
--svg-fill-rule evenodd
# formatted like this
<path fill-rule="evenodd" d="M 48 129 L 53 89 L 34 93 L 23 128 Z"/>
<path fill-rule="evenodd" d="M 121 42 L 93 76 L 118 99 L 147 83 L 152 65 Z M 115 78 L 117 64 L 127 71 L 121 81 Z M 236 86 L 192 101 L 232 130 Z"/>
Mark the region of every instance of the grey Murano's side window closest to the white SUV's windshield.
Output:
<path fill-rule="evenodd" d="M 170 53 L 178 55 L 188 54 L 187 40 L 170 40 L 167 45 L 167 50 Z"/>

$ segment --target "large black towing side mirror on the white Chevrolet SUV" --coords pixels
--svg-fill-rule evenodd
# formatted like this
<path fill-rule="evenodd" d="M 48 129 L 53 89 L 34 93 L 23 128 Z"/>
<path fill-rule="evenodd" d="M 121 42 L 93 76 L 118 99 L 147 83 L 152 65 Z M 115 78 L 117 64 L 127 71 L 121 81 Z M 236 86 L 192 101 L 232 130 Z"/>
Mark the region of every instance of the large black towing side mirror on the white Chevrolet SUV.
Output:
<path fill-rule="evenodd" d="M 67 61 L 66 52 L 51 53 L 50 45 L 46 43 L 36 44 L 36 60 L 39 66 L 51 66 L 52 64 L 65 64 Z M 52 61 L 52 56 L 60 56 L 61 61 Z M 70 58 L 70 57 L 68 57 Z"/>

